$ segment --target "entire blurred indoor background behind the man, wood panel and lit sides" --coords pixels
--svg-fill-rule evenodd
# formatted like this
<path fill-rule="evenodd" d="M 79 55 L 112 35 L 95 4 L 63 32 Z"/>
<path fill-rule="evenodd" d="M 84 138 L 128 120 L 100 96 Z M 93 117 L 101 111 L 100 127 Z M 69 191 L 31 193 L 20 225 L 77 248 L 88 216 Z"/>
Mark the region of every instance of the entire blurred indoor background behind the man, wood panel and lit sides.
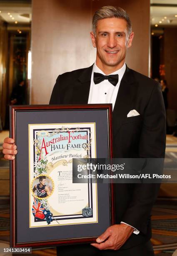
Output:
<path fill-rule="evenodd" d="M 175 131 L 177 0 L 0 0 L 0 130 L 9 128 L 9 105 L 20 104 L 12 100 L 20 81 L 22 104 L 48 104 L 59 74 L 93 64 L 92 15 L 103 5 L 130 15 L 135 37 L 126 63 L 167 80 L 167 121 Z"/>

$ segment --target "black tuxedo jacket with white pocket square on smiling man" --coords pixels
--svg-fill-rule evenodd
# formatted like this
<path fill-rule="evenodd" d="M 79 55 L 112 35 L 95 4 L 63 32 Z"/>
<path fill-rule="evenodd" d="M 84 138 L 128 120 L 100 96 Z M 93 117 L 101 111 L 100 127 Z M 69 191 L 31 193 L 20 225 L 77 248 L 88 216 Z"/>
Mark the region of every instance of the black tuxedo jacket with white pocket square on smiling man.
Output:
<path fill-rule="evenodd" d="M 92 66 L 57 77 L 50 104 L 86 104 Z M 140 115 L 127 118 L 130 110 Z M 166 138 L 165 107 L 160 84 L 126 67 L 113 110 L 115 158 L 163 158 Z M 121 249 L 144 243 L 151 237 L 150 212 L 159 184 L 115 184 L 116 223 L 140 230 Z"/>

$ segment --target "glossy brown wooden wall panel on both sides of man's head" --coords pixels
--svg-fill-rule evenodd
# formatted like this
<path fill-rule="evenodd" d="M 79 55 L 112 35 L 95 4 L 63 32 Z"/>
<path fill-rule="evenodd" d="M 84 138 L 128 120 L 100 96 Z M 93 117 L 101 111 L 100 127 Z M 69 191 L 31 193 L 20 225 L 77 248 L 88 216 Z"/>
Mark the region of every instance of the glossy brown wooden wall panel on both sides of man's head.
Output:
<path fill-rule="evenodd" d="M 94 62 L 92 15 L 104 5 L 117 3 L 129 13 L 135 31 L 127 64 L 148 74 L 150 0 L 33 0 L 32 104 L 48 104 L 59 74 L 89 67 Z"/>

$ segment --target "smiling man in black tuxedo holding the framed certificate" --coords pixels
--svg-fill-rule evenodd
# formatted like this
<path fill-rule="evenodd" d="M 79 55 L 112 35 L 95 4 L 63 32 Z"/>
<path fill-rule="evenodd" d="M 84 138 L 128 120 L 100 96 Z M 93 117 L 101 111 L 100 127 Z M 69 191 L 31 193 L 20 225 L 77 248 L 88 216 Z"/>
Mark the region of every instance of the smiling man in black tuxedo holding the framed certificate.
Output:
<path fill-rule="evenodd" d="M 129 16 L 122 8 L 101 8 L 93 17 L 90 36 L 97 48 L 95 64 L 60 75 L 50 104 L 112 103 L 114 157 L 163 158 L 165 108 L 160 86 L 125 65 L 134 36 Z M 7 144 L 14 143 L 10 140 L 4 143 L 6 159 L 17 153 Z M 107 228 L 93 247 L 62 246 L 58 255 L 154 255 L 150 212 L 158 190 L 158 184 L 115 184 L 117 224 Z"/>

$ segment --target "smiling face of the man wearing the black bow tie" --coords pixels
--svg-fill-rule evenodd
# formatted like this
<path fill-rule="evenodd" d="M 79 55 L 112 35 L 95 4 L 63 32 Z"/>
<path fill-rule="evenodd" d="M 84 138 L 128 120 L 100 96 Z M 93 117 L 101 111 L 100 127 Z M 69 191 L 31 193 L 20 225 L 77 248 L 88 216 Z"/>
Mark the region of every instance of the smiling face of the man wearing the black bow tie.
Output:
<path fill-rule="evenodd" d="M 98 20 L 96 35 L 90 33 L 92 44 L 97 48 L 96 64 L 104 69 L 119 69 L 125 62 L 127 48 L 132 45 L 134 33 L 128 37 L 127 21 L 120 18 Z"/>

